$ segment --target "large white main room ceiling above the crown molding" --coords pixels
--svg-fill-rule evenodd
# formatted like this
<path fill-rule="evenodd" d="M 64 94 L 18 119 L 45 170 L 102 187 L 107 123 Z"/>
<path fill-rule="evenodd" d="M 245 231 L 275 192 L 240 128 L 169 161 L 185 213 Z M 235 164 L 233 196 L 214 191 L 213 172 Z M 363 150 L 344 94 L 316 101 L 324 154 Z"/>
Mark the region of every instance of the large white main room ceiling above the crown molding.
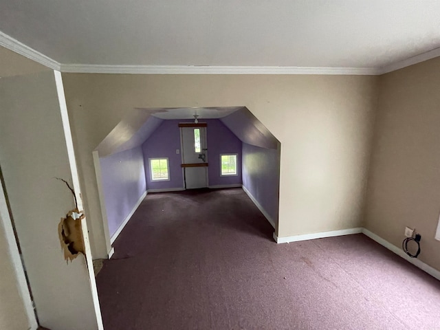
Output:
<path fill-rule="evenodd" d="M 0 31 L 63 64 L 384 67 L 440 47 L 440 1 L 2 0 Z"/>

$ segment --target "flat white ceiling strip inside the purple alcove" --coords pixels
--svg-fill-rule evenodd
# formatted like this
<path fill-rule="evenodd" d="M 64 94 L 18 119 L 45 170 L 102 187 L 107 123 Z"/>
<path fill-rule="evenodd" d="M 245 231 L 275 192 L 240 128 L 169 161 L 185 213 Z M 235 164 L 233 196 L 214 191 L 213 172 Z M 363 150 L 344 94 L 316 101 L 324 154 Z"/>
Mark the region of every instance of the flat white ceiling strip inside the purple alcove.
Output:
<path fill-rule="evenodd" d="M 171 119 L 216 119 L 223 118 L 243 107 L 208 107 L 208 108 L 148 108 L 151 115 L 165 120 Z"/>

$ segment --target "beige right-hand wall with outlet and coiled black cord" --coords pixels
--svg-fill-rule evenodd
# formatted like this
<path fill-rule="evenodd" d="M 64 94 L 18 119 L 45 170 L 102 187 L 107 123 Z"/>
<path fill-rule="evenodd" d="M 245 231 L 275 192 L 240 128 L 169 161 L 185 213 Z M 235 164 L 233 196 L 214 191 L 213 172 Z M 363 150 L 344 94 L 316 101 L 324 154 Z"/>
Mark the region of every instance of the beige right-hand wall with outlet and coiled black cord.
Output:
<path fill-rule="evenodd" d="M 440 270 L 440 58 L 380 77 L 365 226 L 401 246 L 422 236 L 419 259 Z"/>

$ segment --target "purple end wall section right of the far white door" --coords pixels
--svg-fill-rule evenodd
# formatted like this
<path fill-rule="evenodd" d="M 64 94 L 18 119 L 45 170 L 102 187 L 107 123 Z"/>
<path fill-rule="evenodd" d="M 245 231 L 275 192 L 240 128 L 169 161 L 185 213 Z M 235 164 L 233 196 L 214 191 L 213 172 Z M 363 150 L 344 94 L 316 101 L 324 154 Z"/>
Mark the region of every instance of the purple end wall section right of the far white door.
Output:
<path fill-rule="evenodd" d="M 208 124 L 208 178 L 209 186 L 241 184 L 241 144 L 242 142 L 218 119 L 203 120 Z M 222 177 L 220 175 L 220 155 L 222 153 L 236 153 L 236 176 Z"/>

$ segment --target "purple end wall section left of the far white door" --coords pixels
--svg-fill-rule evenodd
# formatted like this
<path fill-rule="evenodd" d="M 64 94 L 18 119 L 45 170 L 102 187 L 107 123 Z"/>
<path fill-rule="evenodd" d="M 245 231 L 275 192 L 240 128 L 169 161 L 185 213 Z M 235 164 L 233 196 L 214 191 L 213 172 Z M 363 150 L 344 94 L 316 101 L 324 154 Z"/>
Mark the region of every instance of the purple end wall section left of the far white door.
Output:
<path fill-rule="evenodd" d="M 179 122 L 181 120 L 164 120 L 148 140 L 142 144 L 147 190 L 184 188 L 184 177 L 180 166 L 181 155 L 176 154 L 176 149 L 180 151 L 180 131 L 179 126 L 177 126 Z M 151 181 L 148 159 L 159 157 L 168 158 L 169 181 Z"/>

